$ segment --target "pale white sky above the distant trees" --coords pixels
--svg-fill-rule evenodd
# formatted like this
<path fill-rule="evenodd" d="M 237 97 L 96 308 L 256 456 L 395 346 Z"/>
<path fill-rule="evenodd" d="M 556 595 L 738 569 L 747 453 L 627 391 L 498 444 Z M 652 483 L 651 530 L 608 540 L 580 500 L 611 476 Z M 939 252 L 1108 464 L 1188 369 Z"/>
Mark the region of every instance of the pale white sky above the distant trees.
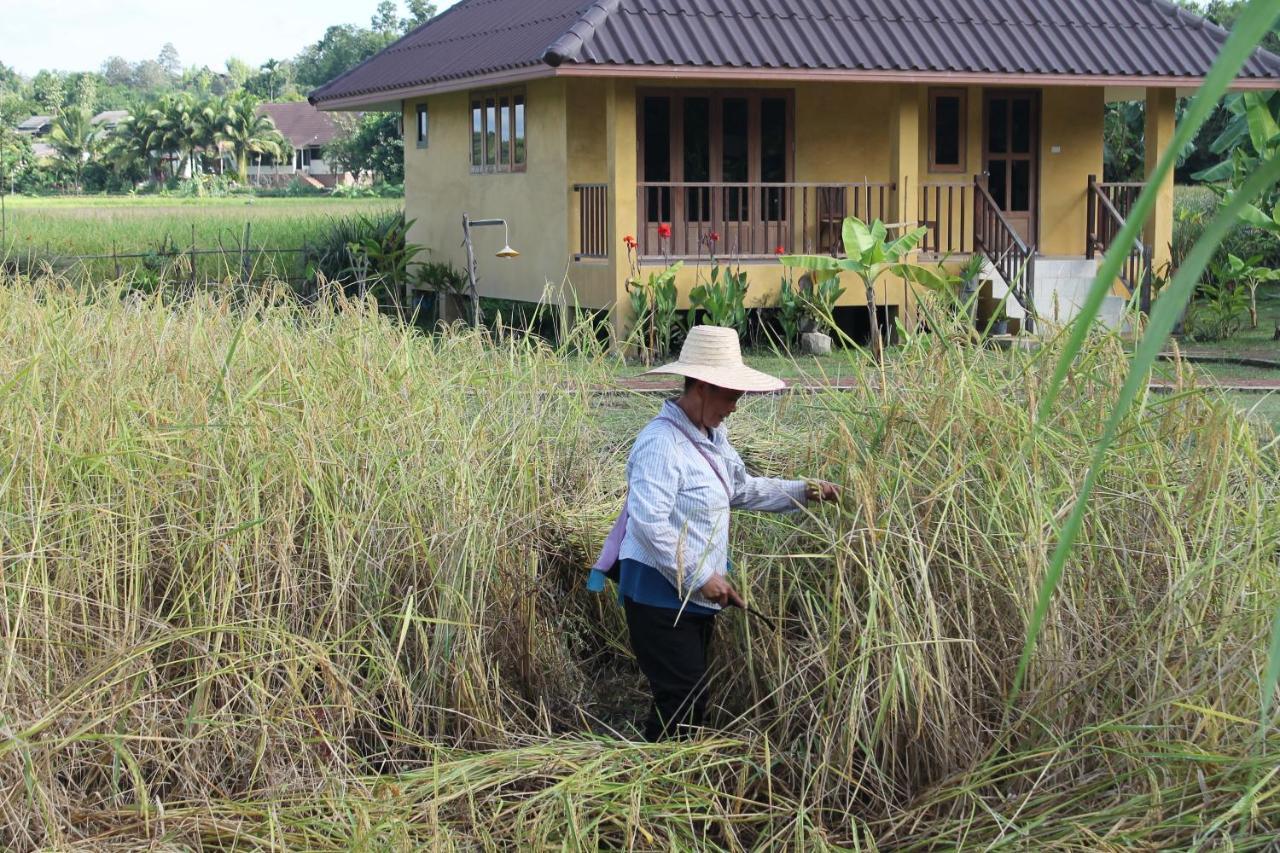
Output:
<path fill-rule="evenodd" d="M 172 41 L 183 68 L 223 70 L 229 56 L 259 65 L 294 56 L 333 24 L 367 27 L 376 6 L 378 0 L 0 0 L 0 61 L 28 77 L 41 68 L 97 70 L 111 55 L 155 59 Z"/>

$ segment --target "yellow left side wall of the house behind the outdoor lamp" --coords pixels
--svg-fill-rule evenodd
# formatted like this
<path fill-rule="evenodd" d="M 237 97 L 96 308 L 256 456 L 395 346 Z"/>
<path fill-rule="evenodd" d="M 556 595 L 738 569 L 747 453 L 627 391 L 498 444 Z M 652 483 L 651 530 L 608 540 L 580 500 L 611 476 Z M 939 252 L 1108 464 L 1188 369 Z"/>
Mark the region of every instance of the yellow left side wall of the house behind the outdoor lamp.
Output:
<path fill-rule="evenodd" d="M 538 301 L 548 282 L 557 287 L 568 259 L 568 146 L 566 83 L 531 81 L 526 93 L 526 170 L 471 173 L 467 92 L 404 101 L 404 127 L 415 127 L 417 105 L 430 110 L 428 147 L 404 146 L 404 213 L 416 220 L 411 242 L 430 250 L 429 260 L 466 270 L 462 214 L 506 219 L 520 257 L 494 257 L 502 228 L 472 232 L 481 296 Z"/>

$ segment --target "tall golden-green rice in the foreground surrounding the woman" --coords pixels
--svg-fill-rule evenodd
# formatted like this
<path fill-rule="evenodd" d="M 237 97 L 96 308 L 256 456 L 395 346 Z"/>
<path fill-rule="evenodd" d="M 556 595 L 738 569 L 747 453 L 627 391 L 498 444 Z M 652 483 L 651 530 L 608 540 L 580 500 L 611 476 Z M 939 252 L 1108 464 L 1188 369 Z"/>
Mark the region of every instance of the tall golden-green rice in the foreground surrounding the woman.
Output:
<path fill-rule="evenodd" d="M 657 402 L 364 304 L 0 287 L 0 847 L 1265 849 L 1280 446 L 1188 370 L 1128 416 L 1012 678 L 1126 356 L 920 338 L 748 401 L 716 730 L 637 743 L 584 588 Z M 1056 345 L 1055 345 L 1056 346 Z"/>

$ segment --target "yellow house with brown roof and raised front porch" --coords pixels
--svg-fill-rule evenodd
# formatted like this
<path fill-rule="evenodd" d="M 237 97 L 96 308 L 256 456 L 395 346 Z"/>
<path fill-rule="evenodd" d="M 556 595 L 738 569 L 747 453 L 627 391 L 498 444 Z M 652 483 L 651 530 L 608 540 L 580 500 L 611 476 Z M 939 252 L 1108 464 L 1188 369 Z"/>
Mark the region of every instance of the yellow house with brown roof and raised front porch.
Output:
<path fill-rule="evenodd" d="M 924 225 L 923 260 L 980 252 L 997 295 L 1061 321 L 1139 188 L 1101 181 L 1105 105 L 1146 99 L 1149 173 L 1225 40 L 1165 0 L 461 0 L 311 101 L 402 113 L 411 240 L 434 260 L 465 268 L 465 215 L 508 223 L 516 260 L 474 234 L 481 296 L 621 330 L 631 237 L 641 274 L 687 261 L 682 298 L 714 254 L 767 304 L 780 252 L 838 254 L 858 215 Z M 1260 50 L 1235 87 L 1277 81 Z M 1171 234 L 1170 178 L 1112 302 Z M 913 300 L 887 282 L 877 302 Z M 861 288 L 842 305 L 865 328 Z"/>

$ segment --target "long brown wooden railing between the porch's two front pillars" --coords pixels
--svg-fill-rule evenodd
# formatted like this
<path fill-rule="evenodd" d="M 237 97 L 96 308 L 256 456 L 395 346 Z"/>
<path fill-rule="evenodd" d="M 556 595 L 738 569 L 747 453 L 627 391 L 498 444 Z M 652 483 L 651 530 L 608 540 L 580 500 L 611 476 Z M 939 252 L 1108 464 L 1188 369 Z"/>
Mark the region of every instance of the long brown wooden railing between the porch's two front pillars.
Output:
<path fill-rule="evenodd" d="M 887 219 L 892 183 L 666 183 L 639 184 L 636 240 L 641 257 L 717 255 L 772 257 L 838 254 L 845 216 Z M 666 245 L 659 228 L 671 228 Z"/>

